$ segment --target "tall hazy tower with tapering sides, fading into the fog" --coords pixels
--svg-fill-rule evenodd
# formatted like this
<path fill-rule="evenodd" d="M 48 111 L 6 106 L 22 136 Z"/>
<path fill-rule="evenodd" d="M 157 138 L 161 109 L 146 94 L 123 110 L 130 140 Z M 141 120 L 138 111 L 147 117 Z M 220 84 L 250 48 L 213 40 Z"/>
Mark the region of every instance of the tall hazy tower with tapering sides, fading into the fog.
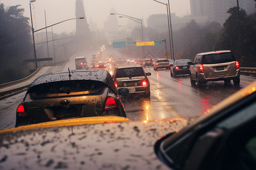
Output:
<path fill-rule="evenodd" d="M 76 35 L 90 37 L 90 29 L 84 12 L 84 2 L 76 0 L 76 17 L 84 17 L 84 19 L 76 20 Z"/>

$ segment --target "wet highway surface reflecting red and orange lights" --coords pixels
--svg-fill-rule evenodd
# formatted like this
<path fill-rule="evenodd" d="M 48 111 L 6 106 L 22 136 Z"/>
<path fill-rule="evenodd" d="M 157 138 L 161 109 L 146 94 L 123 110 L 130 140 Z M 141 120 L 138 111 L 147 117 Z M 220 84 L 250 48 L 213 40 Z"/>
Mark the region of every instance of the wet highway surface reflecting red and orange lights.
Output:
<path fill-rule="evenodd" d="M 86 56 L 95 54 L 90 50 Z M 73 58 L 81 56 L 77 53 Z M 113 55 L 115 58 L 124 57 L 116 51 L 106 51 L 104 59 Z M 90 57 L 87 57 L 90 63 Z M 64 66 L 49 68 L 49 72 L 75 69 L 75 60 L 71 59 Z M 144 99 L 140 96 L 133 96 L 125 102 L 127 118 L 132 121 L 159 120 L 171 117 L 195 117 L 205 114 L 207 109 L 216 105 L 234 92 L 255 81 L 254 77 L 241 75 L 240 87 L 234 87 L 233 82 L 224 85 L 224 82 L 210 82 L 207 85 L 198 88 L 192 87 L 189 76 L 170 76 L 170 70 L 153 70 L 152 67 L 144 67 L 150 80 L 150 99 Z M 44 71 L 47 73 L 48 71 Z M 113 71 L 113 67 L 112 70 Z M 110 72 L 109 71 L 109 72 Z M 15 125 L 16 107 L 22 101 L 25 92 L 0 100 L 0 130 L 13 128 Z"/>

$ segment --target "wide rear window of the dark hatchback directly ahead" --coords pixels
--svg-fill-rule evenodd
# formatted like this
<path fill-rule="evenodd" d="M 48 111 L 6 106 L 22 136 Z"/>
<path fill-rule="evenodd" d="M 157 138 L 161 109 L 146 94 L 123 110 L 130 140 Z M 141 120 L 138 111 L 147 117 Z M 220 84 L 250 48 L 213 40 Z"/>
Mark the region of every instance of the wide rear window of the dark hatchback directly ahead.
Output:
<path fill-rule="evenodd" d="M 31 87 L 27 94 L 32 99 L 48 97 L 61 97 L 72 95 L 97 94 L 107 85 L 94 80 L 69 80 L 60 82 L 49 82 Z"/>

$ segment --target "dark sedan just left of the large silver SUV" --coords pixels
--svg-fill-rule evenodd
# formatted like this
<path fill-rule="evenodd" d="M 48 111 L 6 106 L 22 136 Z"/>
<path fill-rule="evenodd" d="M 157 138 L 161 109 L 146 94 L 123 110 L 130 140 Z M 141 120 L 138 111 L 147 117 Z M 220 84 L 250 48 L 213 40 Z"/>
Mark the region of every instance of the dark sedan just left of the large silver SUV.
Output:
<path fill-rule="evenodd" d="M 171 76 L 189 74 L 190 59 L 178 59 L 170 67 Z"/>

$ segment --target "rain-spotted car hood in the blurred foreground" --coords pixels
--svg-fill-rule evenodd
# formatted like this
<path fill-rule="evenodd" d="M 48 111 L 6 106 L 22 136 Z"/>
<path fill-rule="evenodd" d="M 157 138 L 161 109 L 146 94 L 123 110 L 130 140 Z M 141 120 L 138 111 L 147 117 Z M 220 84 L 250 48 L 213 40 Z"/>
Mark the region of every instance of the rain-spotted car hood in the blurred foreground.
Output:
<path fill-rule="evenodd" d="M 172 118 L 12 130 L 0 134 L 0 169 L 168 169 L 154 144 L 187 124 Z"/>

